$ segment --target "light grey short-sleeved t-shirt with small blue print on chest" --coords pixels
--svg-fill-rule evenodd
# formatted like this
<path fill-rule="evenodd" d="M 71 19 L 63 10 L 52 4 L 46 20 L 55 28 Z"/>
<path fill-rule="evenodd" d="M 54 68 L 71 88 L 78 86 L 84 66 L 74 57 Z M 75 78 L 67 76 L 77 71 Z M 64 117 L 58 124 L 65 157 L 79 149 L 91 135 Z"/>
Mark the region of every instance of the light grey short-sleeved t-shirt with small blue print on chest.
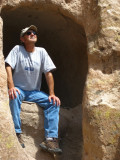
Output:
<path fill-rule="evenodd" d="M 56 68 L 46 50 L 41 47 L 35 47 L 35 51 L 30 53 L 24 46 L 16 45 L 5 62 L 14 70 L 14 85 L 28 91 L 40 90 L 42 73 Z"/>

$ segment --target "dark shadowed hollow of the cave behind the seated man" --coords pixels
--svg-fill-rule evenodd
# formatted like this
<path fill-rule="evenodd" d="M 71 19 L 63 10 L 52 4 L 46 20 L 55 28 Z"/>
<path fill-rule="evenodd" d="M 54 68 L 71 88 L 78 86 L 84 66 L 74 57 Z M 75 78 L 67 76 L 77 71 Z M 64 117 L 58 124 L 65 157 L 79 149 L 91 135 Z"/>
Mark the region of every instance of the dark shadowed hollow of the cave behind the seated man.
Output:
<path fill-rule="evenodd" d="M 36 46 L 44 47 L 57 70 L 53 72 L 55 93 L 62 107 L 71 108 L 82 103 L 88 61 L 84 29 L 72 19 L 57 11 L 36 10 L 29 7 L 5 7 L 3 18 L 3 53 L 20 44 L 21 29 L 34 24 L 38 27 Z M 46 90 L 43 78 L 42 89 Z"/>

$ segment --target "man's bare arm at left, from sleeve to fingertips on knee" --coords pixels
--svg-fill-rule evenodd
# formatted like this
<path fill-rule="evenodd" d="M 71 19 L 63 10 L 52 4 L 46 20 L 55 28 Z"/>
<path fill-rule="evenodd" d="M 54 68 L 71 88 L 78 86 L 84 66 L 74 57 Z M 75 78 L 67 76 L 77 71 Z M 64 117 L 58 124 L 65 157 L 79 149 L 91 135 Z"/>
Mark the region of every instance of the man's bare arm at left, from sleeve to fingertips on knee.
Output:
<path fill-rule="evenodd" d="M 5 68 L 7 72 L 7 84 L 8 84 L 8 89 L 9 89 L 8 91 L 9 98 L 14 99 L 14 96 L 15 98 L 17 97 L 16 91 L 18 92 L 18 94 L 20 94 L 20 91 L 14 86 L 11 66 L 5 63 Z"/>

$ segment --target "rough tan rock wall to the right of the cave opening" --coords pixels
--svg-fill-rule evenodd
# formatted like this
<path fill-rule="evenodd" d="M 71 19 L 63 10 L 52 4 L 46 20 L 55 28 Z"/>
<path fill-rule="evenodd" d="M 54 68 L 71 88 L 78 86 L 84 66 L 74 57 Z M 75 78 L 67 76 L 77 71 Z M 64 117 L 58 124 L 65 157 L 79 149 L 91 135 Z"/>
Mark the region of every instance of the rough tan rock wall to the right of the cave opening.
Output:
<path fill-rule="evenodd" d="M 99 1 L 99 32 L 88 38 L 89 73 L 83 100 L 84 160 L 120 157 L 119 1 Z"/>

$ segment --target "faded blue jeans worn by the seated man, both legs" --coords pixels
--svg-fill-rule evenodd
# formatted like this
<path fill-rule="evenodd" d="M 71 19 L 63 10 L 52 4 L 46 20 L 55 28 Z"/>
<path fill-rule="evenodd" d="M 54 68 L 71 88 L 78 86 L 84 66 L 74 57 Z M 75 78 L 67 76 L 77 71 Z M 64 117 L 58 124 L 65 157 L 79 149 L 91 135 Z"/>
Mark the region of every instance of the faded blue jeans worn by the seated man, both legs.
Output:
<path fill-rule="evenodd" d="M 17 98 L 10 100 L 10 109 L 14 121 L 16 133 L 21 133 L 21 104 L 22 101 L 35 102 L 44 108 L 44 129 L 45 137 L 58 138 L 58 123 L 60 107 L 53 102 L 49 102 L 48 95 L 42 91 L 25 91 L 16 87 L 20 91 Z"/>

